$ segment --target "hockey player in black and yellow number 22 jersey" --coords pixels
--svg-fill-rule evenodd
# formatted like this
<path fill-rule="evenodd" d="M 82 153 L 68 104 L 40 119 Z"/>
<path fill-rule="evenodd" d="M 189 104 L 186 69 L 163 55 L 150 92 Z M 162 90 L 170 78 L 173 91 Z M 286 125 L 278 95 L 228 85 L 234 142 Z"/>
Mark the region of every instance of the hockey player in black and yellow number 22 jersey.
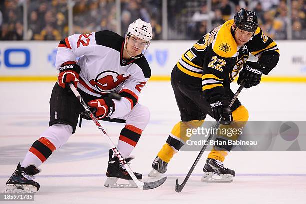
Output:
<path fill-rule="evenodd" d="M 249 53 L 258 57 L 247 61 Z M 171 73 L 171 84 L 181 121 L 172 129 L 166 143 L 153 161 L 149 176 L 165 173 L 173 155 L 189 139 L 186 129 L 201 126 L 207 114 L 215 120 L 223 118 L 220 128 L 242 127 L 248 111 L 237 99 L 230 108 L 233 92 L 230 83 L 238 76 L 245 88 L 259 84 L 278 63 L 277 44 L 264 35 L 255 12 L 240 9 L 234 19 L 216 27 L 198 40 L 179 59 Z M 240 73 L 239 73 L 240 72 Z M 235 135 L 236 137 L 238 135 Z M 227 135 L 216 140 L 226 141 Z M 231 145 L 215 145 L 203 168 L 202 181 L 231 182 L 235 172 L 223 165 Z M 219 178 L 212 177 L 214 174 Z"/>

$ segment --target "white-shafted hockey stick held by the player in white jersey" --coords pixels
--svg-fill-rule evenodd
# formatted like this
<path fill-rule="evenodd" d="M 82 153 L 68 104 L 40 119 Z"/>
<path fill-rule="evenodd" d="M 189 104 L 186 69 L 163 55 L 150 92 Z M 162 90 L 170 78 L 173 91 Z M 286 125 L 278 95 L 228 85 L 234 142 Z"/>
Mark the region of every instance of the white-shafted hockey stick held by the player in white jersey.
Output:
<path fill-rule="evenodd" d="M 119 158 L 119 161 L 121 162 L 121 164 L 125 167 L 126 171 L 128 172 L 128 174 L 130 175 L 130 177 L 133 179 L 133 181 L 136 183 L 136 185 L 138 186 L 138 188 L 142 189 L 142 190 L 148 190 L 148 189 L 153 189 L 156 187 L 159 187 L 160 185 L 162 185 L 167 177 L 164 177 L 160 180 L 154 181 L 154 182 L 141 182 L 140 180 L 138 180 L 135 176 L 135 174 L 133 173 L 132 169 L 129 167 L 129 165 L 126 163 L 126 161 L 124 160 L 124 158 L 122 157 L 122 155 L 120 154 L 120 152 L 118 151 L 118 149 L 116 148 L 116 146 L 114 145 L 114 143 L 112 142 L 112 140 L 110 139 L 110 137 L 107 135 L 106 131 L 104 130 L 104 128 L 101 126 L 101 124 L 99 123 L 99 121 L 96 119 L 96 117 L 94 116 L 94 114 L 91 112 L 91 110 L 89 109 L 88 105 L 86 104 L 86 102 L 83 100 L 83 98 L 81 97 L 81 95 L 79 94 L 79 92 L 76 90 L 76 88 L 74 87 L 74 85 L 72 83 L 69 84 L 70 88 L 72 90 L 72 92 L 74 93 L 74 95 L 77 97 L 77 99 L 79 100 L 79 102 L 83 105 L 83 107 L 85 108 L 85 111 L 88 113 L 88 115 L 90 116 L 90 118 L 92 119 L 92 121 L 94 121 L 95 125 L 102 130 L 102 134 L 103 136 L 106 138 L 106 140 L 108 141 L 108 144 L 110 146 L 110 148 L 113 150 L 113 152 L 116 154 L 116 156 Z"/>

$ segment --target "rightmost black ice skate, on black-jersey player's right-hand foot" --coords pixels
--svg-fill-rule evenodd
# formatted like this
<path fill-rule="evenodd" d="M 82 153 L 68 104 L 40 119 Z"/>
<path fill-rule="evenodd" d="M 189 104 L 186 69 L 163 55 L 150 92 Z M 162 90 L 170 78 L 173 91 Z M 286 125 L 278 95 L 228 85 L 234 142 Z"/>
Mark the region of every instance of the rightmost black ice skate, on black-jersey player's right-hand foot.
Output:
<path fill-rule="evenodd" d="M 234 170 L 225 168 L 222 161 L 212 158 L 207 159 L 203 171 L 202 182 L 232 182 L 235 176 Z"/>

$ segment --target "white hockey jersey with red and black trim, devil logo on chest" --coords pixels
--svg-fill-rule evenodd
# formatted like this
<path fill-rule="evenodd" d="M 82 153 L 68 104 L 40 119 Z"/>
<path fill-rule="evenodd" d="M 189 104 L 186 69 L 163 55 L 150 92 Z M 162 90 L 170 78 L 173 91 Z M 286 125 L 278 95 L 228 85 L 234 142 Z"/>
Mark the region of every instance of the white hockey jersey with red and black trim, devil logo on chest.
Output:
<path fill-rule="evenodd" d="M 151 76 L 146 58 L 123 59 L 125 39 L 111 31 L 74 34 L 61 40 L 56 55 L 56 69 L 75 62 L 81 72 L 78 88 L 97 97 L 117 92 L 120 101 L 111 118 L 127 114 L 137 103 L 142 87 Z"/>

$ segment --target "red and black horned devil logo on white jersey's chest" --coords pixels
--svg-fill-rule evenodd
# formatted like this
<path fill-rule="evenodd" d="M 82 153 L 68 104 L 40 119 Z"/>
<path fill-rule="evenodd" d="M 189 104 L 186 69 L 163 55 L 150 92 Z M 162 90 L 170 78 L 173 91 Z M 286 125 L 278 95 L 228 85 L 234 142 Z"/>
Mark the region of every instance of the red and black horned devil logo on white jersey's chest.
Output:
<path fill-rule="evenodd" d="M 113 92 L 119 88 L 119 85 L 123 83 L 130 75 L 124 76 L 124 74 L 119 74 L 115 71 L 103 71 L 98 74 L 89 83 L 96 87 L 100 92 Z"/>

